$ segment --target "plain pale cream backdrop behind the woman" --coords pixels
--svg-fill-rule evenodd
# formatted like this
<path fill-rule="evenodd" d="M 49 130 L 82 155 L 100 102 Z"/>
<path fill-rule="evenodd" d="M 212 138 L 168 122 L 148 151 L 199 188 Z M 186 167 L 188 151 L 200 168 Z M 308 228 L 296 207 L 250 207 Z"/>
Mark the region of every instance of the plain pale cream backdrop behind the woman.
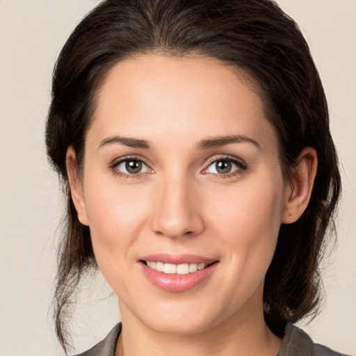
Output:
<path fill-rule="evenodd" d="M 0 355 L 63 355 L 51 318 L 63 202 L 45 155 L 44 121 L 60 48 L 98 2 L 0 0 Z M 356 1 L 277 2 L 312 48 L 343 177 L 338 243 L 323 268 L 327 298 L 302 327 L 314 341 L 356 355 Z M 76 351 L 102 339 L 119 318 L 102 277 L 88 278 L 72 325 Z"/>

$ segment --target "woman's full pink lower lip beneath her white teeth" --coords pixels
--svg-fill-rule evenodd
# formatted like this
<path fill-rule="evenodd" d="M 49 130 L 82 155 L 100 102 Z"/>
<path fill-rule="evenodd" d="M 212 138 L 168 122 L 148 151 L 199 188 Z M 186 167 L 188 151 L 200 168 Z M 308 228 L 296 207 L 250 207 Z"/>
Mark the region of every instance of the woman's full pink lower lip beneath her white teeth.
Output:
<path fill-rule="evenodd" d="M 197 270 L 187 275 L 177 275 L 159 272 L 149 268 L 143 262 L 141 264 L 143 273 L 152 284 L 159 287 L 159 289 L 163 289 L 163 291 L 170 292 L 184 292 L 199 286 L 211 276 L 216 266 L 218 266 L 218 263 L 215 262 L 202 270 Z"/>

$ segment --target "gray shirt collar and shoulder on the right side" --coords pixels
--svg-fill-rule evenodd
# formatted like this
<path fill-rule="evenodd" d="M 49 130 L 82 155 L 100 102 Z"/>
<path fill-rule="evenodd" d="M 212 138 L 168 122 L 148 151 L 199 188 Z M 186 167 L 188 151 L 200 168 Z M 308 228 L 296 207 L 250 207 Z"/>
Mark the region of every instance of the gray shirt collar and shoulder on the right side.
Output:
<path fill-rule="evenodd" d="M 326 346 L 314 343 L 301 329 L 293 324 L 286 325 L 282 347 L 277 356 L 346 356 Z"/>

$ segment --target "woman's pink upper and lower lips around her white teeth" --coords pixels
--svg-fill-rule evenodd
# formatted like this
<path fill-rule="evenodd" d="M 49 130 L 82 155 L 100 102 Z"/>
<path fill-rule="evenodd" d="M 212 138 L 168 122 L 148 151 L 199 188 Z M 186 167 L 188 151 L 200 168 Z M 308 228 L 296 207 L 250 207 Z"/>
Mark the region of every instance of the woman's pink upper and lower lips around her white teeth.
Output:
<path fill-rule="evenodd" d="M 149 268 L 143 264 L 143 262 L 140 262 L 140 266 L 142 267 L 143 273 L 147 279 L 159 289 L 170 292 L 184 292 L 199 286 L 209 279 L 213 271 L 218 266 L 218 263 L 213 264 L 213 262 L 216 261 L 214 259 L 207 259 L 192 254 L 151 254 L 143 257 L 142 260 L 161 261 L 166 264 L 211 264 L 209 267 L 197 270 L 193 273 L 188 273 L 187 275 L 177 275 L 159 272 L 158 270 Z"/>

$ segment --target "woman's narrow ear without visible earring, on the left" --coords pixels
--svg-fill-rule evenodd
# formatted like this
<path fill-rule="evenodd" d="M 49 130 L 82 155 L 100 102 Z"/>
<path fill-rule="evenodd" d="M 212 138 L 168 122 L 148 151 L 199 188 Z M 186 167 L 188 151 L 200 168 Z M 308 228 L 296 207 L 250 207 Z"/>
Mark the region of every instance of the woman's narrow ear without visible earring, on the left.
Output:
<path fill-rule="evenodd" d="M 72 195 L 76 213 L 78 213 L 78 219 L 83 225 L 88 226 L 88 216 L 86 214 L 83 187 L 81 185 L 81 179 L 76 167 L 76 154 L 72 146 L 68 147 L 67 149 L 65 164 L 67 165 L 67 175 L 70 183 L 70 194 Z"/>

